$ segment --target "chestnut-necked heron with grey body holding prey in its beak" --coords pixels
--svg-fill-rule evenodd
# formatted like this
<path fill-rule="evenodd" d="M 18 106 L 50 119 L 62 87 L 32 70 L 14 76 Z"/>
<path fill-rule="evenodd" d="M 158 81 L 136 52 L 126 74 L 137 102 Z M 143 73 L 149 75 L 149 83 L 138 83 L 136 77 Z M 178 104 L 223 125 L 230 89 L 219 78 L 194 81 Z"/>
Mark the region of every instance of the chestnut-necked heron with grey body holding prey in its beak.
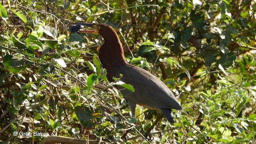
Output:
<path fill-rule="evenodd" d="M 161 110 L 167 120 L 174 123 L 172 109 L 182 110 L 182 106 L 164 82 L 150 72 L 126 62 L 122 43 L 114 28 L 103 23 L 73 23 L 70 24 L 69 31 L 102 36 L 104 44 L 99 49 L 98 57 L 102 67 L 106 69 L 108 81 L 115 82 L 113 77 L 120 78 L 134 88 L 132 92 L 118 86 L 129 102 L 133 118 L 138 104 L 151 110 Z"/>

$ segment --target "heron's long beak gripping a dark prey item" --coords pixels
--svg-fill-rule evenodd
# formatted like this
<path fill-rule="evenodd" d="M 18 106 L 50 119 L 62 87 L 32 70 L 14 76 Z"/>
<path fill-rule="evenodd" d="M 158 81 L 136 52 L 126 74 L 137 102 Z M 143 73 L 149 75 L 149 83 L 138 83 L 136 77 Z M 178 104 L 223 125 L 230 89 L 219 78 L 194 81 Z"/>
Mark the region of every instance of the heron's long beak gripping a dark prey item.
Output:
<path fill-rule="evenodd" d="M 86 29 L 90 28 L 90 29 Z M 69 27 L 71 33 L 81 32 L 81 33 L 90 33 L 90 34 L 99 34 L 99 31 L 95 28 L 94 24 L 86 23 L 73 23 Z"/>

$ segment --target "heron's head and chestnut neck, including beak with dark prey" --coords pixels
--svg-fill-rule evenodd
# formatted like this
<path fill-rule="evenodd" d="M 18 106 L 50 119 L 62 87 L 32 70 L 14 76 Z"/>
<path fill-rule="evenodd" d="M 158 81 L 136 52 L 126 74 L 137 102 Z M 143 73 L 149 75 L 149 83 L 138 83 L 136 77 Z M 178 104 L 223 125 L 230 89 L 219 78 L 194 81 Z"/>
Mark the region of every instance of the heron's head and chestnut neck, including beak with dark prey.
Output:
<path fill-rule="evenodd" d="M 106 24 L 74 23 L 71 24 L 69 31 L 71 33 L 90 33 L 102 36 L 104 44 L 100 47 L 99 58 L 103 67 L 107 70 L 126 64 L 122 44 L 116 31 L 111 26 Z M 112 80 L 112 76 L 110 77 Z"/>

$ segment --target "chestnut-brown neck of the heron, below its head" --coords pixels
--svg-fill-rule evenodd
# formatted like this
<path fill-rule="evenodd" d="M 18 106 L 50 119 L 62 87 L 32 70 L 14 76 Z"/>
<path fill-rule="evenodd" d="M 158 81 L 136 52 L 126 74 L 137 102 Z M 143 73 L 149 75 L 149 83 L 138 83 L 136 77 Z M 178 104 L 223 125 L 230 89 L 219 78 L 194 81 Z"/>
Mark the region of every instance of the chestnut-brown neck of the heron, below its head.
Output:
<path fill-rule="evenodd" d="M 99 58 L 103 68 L 106 68 L 107 72 L 110 73 L 110 71 L 115 70 L 118 66 L 127 64 L 127 62 L 117 34 L 116 36 L 104 36 L 103 38 L 105 42 L 100 47 Z"/>

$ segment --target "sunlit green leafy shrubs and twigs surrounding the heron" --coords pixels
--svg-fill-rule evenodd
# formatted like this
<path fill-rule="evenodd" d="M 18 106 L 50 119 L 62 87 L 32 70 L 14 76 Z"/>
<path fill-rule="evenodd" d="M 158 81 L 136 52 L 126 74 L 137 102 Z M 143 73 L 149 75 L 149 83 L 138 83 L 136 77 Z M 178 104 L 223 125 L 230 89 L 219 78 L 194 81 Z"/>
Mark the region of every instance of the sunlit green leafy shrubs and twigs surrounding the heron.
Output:
<path fill-rule="evenodd" d="M 103 143 L 255 143 L 252 0 L 6 0 L 0 11 L 0 142 L 38 143 L 45 137 L 13 132 L 44 132 Z M 127 61 L 176 94 L 176 123 L 163 118 L 143 138 L 156 111 L 138 106 L 135 124 L 100 67 L 102 38 L 68 34 L 73 22 L 115 28 Z"/>

